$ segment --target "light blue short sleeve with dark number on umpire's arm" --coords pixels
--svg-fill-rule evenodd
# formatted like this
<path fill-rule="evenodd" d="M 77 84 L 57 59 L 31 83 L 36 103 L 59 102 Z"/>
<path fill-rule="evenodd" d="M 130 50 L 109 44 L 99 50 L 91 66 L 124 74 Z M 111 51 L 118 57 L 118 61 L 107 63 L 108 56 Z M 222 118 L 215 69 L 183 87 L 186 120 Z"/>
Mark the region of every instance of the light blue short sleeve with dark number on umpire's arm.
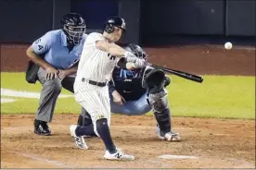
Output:
<path fill-rule="evenodd" d="M 32 43 L 32 49 L 35 54 L 42 55 L 45 54 L 51 46 L 51 34 L 45 33 L 45 35 L 35 42 Z"/>

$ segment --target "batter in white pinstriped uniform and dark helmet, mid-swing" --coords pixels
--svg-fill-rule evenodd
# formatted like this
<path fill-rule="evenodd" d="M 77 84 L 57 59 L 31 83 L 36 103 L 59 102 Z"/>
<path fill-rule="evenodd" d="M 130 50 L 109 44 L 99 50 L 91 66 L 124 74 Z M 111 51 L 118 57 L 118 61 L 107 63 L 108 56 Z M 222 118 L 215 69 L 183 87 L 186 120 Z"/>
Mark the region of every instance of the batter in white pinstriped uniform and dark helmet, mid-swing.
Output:
<path fill-rule="evenodd" d="M 114 43 L 119 41 L 123 30 L 126 30 L 124 19 L 111 17 L 102 34 L 93 32 L 88 35 L 74 83 L 75 100 L 91 115 L 93 124 L 87 127 L 70 126 L 70 131 L 81 149 L 88 149 L 84 135 L 96 134 L 100 137 L 107 149 L 104 158 L 108 160 L 134 160 L 133 155 L 116 148 L 110 136 L 108 81 L 117 65 L 127 69 L 145 67 L 145 60 Z"/>

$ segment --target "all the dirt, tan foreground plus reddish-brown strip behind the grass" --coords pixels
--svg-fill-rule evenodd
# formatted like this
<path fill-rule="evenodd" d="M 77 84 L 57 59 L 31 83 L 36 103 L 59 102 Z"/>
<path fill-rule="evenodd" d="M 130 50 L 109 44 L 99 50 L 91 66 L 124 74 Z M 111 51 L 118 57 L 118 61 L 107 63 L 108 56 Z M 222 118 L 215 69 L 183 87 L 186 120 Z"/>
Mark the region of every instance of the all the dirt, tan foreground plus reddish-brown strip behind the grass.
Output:
<path fill-rule="evenodd" d="M 24 71 L 28 45 L 1 45 L 1 71 Z M 255 76 L 255 49 L 218 45 L 174 45 L 146 48 L 149 61 L 194 74 Z M 241 113 L 242 114 L 242 113 Z M 159 140 L 151 116 L 113 115 L 115 143 L 133 153 L 133 162 L 103 159 L 100 139 L 85 139 L 89 150 L 75 146 L 69 127 L 77 115 L 55 115 L 53 135 L 33 134 L 33 115 L 1 115 L 2 168 L 255 168 L 254 120 L 173 117 L 180 142 Z M 194 156 L 160 159 L 160 155 Z"/>

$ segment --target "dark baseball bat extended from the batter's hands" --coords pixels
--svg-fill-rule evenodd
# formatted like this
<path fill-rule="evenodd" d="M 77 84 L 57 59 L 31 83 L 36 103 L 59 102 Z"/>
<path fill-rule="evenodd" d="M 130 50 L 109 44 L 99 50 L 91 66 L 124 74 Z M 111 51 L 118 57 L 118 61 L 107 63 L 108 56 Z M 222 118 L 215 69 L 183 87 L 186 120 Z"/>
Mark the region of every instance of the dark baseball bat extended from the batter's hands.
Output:
<path fill-rule="evenodd" d="M 184 78 L 184 79 L 189 79 L 189 80 L 196 81 L 196 82 L 199 82 L 199 83 L 201 83 L 203 81 L 202 77 L 199 77 L 197 75 L 193 75 L 193 74 L 190 74 L 190 73 L 186 73 L 184 71 L 179 71 L 179 70 L 175 70 L 175 69 L 171 69 L 171 68 L 167 68 L 167 67 L 160 67 L 160 66 L 153 65 L 153 64 L 150 64 L 148 66 L 159 68 L 159 69 L 161 69 L 165 72 L 172 73 L 173 75 L 179 76 L 179 77 Z"/>

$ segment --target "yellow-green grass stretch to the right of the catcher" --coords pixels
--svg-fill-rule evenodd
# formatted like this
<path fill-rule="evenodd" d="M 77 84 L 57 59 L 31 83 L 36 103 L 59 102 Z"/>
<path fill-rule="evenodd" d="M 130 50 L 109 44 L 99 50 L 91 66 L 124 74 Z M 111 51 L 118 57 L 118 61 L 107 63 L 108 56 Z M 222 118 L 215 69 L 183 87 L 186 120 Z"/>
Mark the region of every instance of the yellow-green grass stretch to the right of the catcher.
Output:
<path fill-rule="evenodd" d="M 204 76 L 202 84 L 174 78 L 173 115 L 255 118 L 255 77 Z"/>

